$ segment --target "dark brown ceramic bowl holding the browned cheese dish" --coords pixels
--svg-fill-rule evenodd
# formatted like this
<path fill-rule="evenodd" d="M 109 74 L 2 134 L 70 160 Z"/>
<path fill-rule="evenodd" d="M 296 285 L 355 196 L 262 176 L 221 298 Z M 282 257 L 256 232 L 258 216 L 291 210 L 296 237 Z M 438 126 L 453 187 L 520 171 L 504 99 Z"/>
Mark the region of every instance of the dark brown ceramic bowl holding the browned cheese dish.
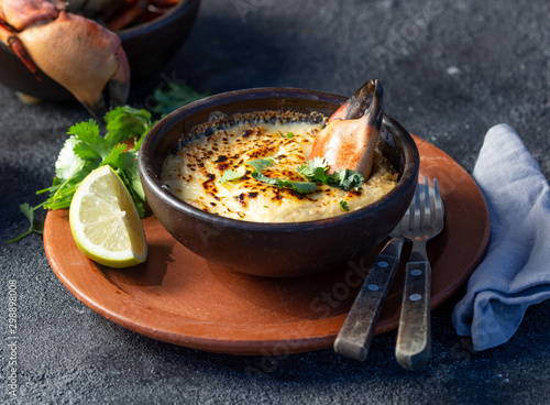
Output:
<path fill-rule="evenodd" d="M 238 272 L 294 277 L 342 270 L 395 228 L 413 198 L 419 155 L 409 133 L 384 118 L 380 147 L 399 173 L 397 186 L 382 199 L 354 212 L 297 223 L 256 223 L 197 209 L 162 187 L 164 158 L 191 128 L 211 112 L 258 110 L 318 111 L 327 117 L 345 98 L 302 89 L 263 88 L 231 91 L 187 105 L 162 119 L 142 143 L 139 165 L 146 198 L 158 221 L 182 244 L 206 260 Z"/>

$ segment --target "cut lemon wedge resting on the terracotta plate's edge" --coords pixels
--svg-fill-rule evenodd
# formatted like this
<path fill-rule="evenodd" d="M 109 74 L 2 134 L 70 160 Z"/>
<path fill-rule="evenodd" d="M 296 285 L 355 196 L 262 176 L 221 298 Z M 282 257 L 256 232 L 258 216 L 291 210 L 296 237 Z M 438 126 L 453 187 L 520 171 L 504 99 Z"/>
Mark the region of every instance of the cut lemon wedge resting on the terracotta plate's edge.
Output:
<path fill-rule="evenodd" d="M 111 166 L 100 166 L 78 186 L 69 208 L 78 248 L 110 267 L 129 267 L 147 259 L 147 242 L 135 205 Z"/>

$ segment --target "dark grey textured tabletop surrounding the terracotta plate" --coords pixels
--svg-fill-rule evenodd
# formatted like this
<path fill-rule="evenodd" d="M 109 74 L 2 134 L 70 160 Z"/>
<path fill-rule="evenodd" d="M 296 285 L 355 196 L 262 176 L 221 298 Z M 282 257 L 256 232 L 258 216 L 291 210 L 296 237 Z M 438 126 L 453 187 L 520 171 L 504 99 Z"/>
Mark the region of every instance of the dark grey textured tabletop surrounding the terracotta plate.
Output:
<path fill-rule="evenodd" d="M 290 86 L 350 95 L 377 77 L 386 111 L 469 172 L 485 132 L 506 122 L 549 177 L 549 15 L 543 0 L 204 0 L 177 57 L 135 84 L 130 103 L 147 107 L 166 80 L 210 92 Z M 40 202 L 34 191 L 51 184 L 67 129 L 87 119 L 79 105 L 23 105 L 0 87 L 0 308 L 16 280 L 18 403 L 548 403 L 549 302 L 528 309 L 508 343 L 472 353 L 450 320 L 460 292 L 433 313 L 433 354 L 418 372 L 396 363 L 395 332 L 376 337 L 359 364 L 331 350 L 205 353 L 103 319 L 55 277 L 41 237 L 6 243 L 28 226 L 19 204 Z M 9 399 L 7 336 L 4 315 L 0 402 Z"/>

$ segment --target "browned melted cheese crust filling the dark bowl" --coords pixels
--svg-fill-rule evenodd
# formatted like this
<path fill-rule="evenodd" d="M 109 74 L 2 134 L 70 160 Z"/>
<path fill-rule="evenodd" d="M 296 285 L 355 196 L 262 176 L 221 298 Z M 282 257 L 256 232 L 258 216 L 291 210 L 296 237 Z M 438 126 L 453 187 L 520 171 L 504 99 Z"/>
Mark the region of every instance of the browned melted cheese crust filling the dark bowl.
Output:
<path fill-rule="evenodd" d="M 305 179 L 297 167 L 307 164 L 315 136 L 323 123 L 241 122 L 218 129 L 208 136 L 186 141 L 163 165 L 161 180 L 182 200 L 208 212 L 254 222 L 301 222 L 343 215 L 360 209 L 387 194 L 397 183 L 389 162 L 375 152 L 371 177 L 359 190 L 319 185 L 302 195 L 250 176 L 245 162 L 273 157 L 276 163 L 262 173 L 295 182 Z M 211 132 L 211 131 L 210 131 Z M 226 169 L 243 175 L 220 183 Z"/>

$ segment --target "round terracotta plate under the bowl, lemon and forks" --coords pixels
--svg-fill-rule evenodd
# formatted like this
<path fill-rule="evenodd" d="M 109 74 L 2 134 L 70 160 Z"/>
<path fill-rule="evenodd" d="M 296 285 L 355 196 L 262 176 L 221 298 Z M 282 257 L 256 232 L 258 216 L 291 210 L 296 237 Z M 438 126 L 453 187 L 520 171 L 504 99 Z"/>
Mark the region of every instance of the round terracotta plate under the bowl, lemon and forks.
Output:
<path fill-rule="evenodd" d="M 415 140 L 420 175 L 437 176 L 446 205 L 446 229 L 428 244 L 435 308 L 465 283 L 482 260 L 490 218 L 469 174 L 436 146 Z M 195 255 L 154 217 L 145 219 L 144 226 L 147 262 L 114 270 L 78 250 L 66 210 L 51 211 L 44 228 L 46 255 L 69 292 L 107 319 L 153 339 L 210 352 L 265 355 L 330 348 L 376 253 L 320 276 L 261 278 Z M 376 333 L 397 327 L 402 278 L 403 269 Z"/>

